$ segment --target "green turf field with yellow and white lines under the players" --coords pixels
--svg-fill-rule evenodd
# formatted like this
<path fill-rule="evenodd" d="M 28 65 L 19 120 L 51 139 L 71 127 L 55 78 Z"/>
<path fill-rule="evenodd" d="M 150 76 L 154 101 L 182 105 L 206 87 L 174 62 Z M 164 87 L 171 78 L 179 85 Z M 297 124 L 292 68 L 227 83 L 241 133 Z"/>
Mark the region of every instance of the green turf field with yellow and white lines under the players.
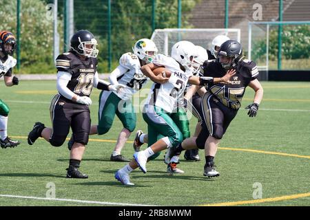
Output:
<path fill-rule="evenodd" d="M 185 173 L 169 176 L 162 153 L 147 164 L 146 174 L 135 170 L 131 180 L 136 186 L 126 187 L 114 179 L 115 171 L 126 163 L 110 162 L 122 128 L 117 118 L 109 133 L 90 137 L 80 168 L 89 179 L 66 179 L 66 143 L 55 148 L 41 139 L 29 146 L 26 140 L 34 122 L 51 125 L 55 82 L 22 81 L 17 87 L 1 83 L 0 98 L 11 109 L 8 135 L 21 144 L 0 149 L 0 206 L 310 206 L 310 83 L 262 82 L 262 86 L 265 96 L 257 117 L 249 118 L 244 110 L 254 96 L 249 88 L 220 143 L 215 160 L 220 177 L 203 176 L 203 151 L 200 162 L 187 162 L 182 154 L 178 167 Z M 91 98 L 96 123 L 99 90 L 94 89 Z M 146 131 L 141 113 L 137 118 L 136 129 Z M 190 125 L 194 133 L 195 118 Z M 123 149 L 126 157 L 132 157 L 133 139 L 134 135 Z M 48 183 L 54 184 L 59 200 L 45 199 Z M 256 183 L 261 190 L 254 187 Z M 261 199 L 254 197 L 256 192 L 262 192 Z"/>

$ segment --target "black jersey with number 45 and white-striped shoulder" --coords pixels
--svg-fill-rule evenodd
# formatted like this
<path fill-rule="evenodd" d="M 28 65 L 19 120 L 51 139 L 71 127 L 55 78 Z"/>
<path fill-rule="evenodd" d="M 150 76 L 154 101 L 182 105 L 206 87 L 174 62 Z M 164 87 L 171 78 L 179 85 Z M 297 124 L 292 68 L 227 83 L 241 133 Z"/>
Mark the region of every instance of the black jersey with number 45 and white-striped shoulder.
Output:
<path fill-rule="evenodd" d="M 209 83 L 206 87 L 220 102 L 231 109 L 240 108 L 242 97 L 245 94 L 245 88 L 251 80 L 255 80 L 258 77 L 258 67 L 254 61 L 247 59 L 240 61 L 235 69 L 236 74 L 231 76 L 230 84 Z M 214 78 L 220 78 L 226 74 L 225 69 L 218 61 L 205 62 L 202 71 L 203 76 Z"/>

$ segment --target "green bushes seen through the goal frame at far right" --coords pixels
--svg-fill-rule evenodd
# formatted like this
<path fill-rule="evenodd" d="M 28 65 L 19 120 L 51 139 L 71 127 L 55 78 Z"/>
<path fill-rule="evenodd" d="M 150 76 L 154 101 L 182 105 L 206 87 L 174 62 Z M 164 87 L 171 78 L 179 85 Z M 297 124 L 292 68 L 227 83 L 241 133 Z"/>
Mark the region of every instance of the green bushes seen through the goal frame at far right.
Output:
<path fill-rule="evenodd" d="M 310 25 L 283 25 L 282 58 L 310 58 Z M 266 57 L 266 40 L 254 42 L 252 50 L 254 58 Z M 269 32 L 269 59 L 276 61 L 278 57 L 278 28 Z"/>

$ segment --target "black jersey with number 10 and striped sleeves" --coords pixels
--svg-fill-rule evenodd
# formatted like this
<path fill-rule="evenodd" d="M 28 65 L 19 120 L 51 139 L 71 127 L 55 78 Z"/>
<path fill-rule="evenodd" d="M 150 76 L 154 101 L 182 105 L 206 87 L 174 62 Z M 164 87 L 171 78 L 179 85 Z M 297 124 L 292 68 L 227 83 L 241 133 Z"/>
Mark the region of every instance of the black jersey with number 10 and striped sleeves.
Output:
<path fill-rule="evenodd" d="M 67 87 L 78 96 L 90 96 L 97 64 L 96 58 L 81 60 L 74 52 L 64 53 L 56 58 L 57 71 L 72 75 Z"/>

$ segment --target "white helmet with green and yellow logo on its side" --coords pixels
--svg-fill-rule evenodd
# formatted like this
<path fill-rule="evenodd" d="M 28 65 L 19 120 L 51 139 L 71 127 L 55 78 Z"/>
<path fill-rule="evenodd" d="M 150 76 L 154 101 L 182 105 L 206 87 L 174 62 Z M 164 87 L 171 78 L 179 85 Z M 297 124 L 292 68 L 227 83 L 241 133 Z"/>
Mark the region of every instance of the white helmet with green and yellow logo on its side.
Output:
<path fill-rule="evenodd" d="M 158 52 L 155 43 L 149 39 L 140 39 L 136 41 L 132 50 L 134 54 L 142 61 L 145 61 L 145 63 L 151 63 Z"/>

